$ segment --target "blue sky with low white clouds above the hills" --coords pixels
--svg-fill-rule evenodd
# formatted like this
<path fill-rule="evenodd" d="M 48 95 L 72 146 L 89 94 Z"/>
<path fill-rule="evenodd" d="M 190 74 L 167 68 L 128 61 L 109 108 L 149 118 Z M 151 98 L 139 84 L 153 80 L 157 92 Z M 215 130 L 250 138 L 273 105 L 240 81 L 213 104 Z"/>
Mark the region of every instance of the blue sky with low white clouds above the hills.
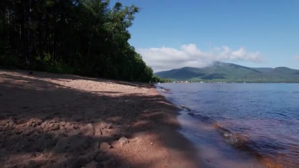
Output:
<path fill-rule="evenodd" d="M 299 69 L 299 0 L 118 1 L 141 8 L 129 42 L 154 71 L 215 60 Z"/>

